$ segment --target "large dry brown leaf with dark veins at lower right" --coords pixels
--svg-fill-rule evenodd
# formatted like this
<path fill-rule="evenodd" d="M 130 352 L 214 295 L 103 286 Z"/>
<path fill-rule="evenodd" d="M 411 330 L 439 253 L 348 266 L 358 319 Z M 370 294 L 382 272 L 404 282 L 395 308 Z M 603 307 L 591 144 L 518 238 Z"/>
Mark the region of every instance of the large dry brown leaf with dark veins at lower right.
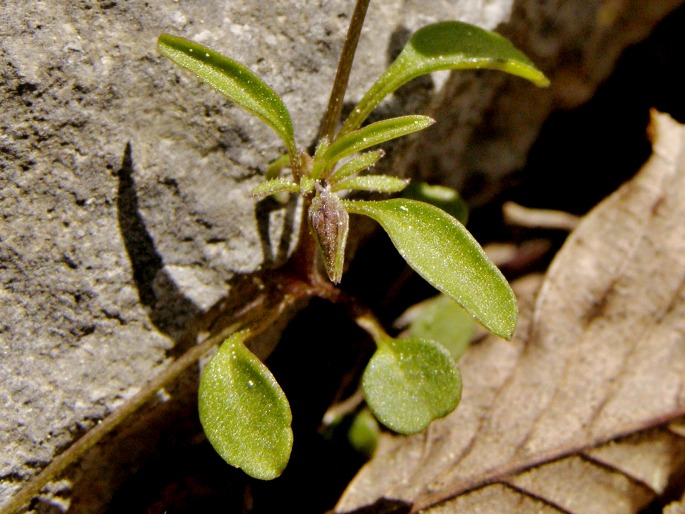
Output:
<path fill-rule="evenodd" d="M 459 408 L 385 437 L 336 512 L 633 513 L 664 492 L 685 461 L 668 425 L 685 415 L 685 129 L 653 128 L 651 159 L 569 237 L 517 338 L 472 347 Z"/>

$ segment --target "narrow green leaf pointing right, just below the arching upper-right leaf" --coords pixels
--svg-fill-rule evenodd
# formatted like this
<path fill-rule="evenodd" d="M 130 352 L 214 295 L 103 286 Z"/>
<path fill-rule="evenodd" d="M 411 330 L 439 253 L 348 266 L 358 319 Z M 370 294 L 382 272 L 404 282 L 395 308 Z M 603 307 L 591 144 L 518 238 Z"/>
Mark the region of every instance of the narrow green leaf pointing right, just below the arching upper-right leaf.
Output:
<path fill-rule="evenodd" d="M 321 156 L 321 170 L 332 167 L 343 157 L 361 152 L 371 146 L 406 136 L 412 132 L 423 130 L 426 127 L 430 127 L 433 123 L 435 123 L 434 119 L 420 115 L 400 116 L 371 123 L 331 143 Z M 314 178 L 319 177 L 315 176 Z"/>

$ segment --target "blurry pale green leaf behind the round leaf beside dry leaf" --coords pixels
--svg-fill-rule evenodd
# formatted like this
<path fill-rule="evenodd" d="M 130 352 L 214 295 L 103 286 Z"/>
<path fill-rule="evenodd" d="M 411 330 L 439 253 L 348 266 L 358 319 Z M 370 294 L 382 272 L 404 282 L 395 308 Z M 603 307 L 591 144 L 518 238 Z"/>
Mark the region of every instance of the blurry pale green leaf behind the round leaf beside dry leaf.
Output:
<path fill-rule="evenodd" d="M 466 351 L 476 331 L 473 316 L 444 294 L 410 307 L 398 322 L 408 323 L 410 337 L 440 343 L 455 361 Z"/>

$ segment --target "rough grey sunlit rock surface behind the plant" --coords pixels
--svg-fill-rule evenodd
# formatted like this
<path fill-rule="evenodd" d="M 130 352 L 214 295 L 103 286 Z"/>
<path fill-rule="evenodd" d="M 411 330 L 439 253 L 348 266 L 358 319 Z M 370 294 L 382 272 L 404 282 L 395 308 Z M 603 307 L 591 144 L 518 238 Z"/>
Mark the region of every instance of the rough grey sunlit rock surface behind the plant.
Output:
<path fill-rule="evenodd" d="M 247 195 L 277 138 L 164 60 L 158 34 L 255 70 L 306 146 L 351 10 L 349 0 L 2 2 L 0 502 L 166 366 L 191 320 L 239 294 L 237 275 L 292 247 L 290 207 L 256 211 Z M 353 96 L 407 29 L 453 18 L 493 28 L 509 11 L 509 1 L 376 2 Z M 90 460 L 135 460 L 134 446 Z M 97 484 L 81 487 L 90 498 L 73 511 L 106 504 L 121 480 L 111 469 L 73 479 Z M 77 485 L 58 483 L 45 501 L 63 510 Z"/>

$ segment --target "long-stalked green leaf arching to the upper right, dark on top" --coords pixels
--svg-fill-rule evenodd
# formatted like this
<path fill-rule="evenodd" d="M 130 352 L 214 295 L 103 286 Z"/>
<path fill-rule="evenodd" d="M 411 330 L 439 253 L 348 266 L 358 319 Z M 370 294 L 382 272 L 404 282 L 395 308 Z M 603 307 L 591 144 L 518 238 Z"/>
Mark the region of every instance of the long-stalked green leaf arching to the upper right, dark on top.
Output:
<path fill-rule="evenodd" d="M 445 21 L 417 30 L 400 55 L 347 118 L 341 134 L 360 127 L 390 93 L 421 75 L 440 70 L 490 68 L 548 86 L 549 80 L 509 40 L 474 25 Z"/>

